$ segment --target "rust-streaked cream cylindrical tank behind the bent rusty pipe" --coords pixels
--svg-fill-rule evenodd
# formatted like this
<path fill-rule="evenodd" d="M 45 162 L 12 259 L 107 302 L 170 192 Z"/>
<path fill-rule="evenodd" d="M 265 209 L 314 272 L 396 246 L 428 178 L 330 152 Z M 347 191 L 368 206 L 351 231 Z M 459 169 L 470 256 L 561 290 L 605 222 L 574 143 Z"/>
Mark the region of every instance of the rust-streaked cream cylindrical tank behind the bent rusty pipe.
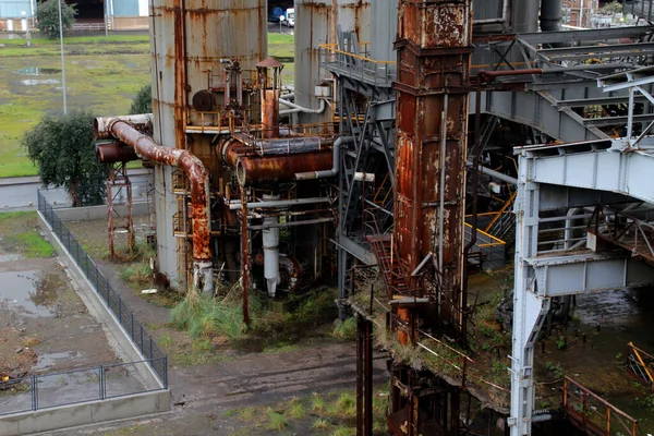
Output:
<path fill-rule="evenodd" d="M 186 133 L 189 119 L 196 117 L 190 110 L 193 96 L 225 85 L 226 61 L 235 59 L 243 70 L 255 70 L 267 57 L 267 2 L 153 0 L 150 8 L 154 140 L 190 148 L 211 170 L 211 137 Z M 175 214 L 180 226 L 185 221 L 179 214 L 184 190 L 178 180 L 171 167 L 155 167 L 158 266 L 171 283 L 189 261 L 183 253 L 190 253 L 189 239 L 173 232 Z"/>

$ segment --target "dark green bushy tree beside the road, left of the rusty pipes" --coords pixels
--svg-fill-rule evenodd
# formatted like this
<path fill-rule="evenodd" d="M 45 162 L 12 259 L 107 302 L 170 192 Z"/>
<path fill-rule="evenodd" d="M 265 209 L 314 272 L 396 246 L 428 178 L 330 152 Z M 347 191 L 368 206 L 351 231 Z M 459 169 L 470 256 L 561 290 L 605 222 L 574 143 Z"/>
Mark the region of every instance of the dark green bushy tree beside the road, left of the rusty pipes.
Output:
<path fill-rule="evenodd" d="M 101 204 L 105 197 L 108 168 L 96 158 L 94 119 L 84 110 L 45 116 L 22 140 L 44 186 L 63 186 L 74 207 Z"/>

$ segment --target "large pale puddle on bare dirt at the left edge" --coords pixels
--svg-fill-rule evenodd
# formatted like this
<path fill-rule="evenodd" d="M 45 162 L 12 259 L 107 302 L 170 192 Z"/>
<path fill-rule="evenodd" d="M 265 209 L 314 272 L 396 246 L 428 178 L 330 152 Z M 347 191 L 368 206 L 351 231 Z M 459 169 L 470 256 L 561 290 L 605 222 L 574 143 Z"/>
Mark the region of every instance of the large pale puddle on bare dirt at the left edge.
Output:
<path fill-rule="evenodd" d="M 31 317 L 53 316 L 59 277 L 38 270 L 0 272 L 0 305 Z"/>

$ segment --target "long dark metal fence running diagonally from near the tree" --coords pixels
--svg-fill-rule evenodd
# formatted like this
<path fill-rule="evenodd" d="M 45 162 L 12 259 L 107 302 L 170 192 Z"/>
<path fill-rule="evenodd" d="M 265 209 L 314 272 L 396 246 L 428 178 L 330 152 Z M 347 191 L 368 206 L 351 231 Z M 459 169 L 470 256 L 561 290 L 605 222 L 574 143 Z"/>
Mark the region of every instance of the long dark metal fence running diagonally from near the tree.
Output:
<path fill-rule="evenodd" d="M 168 389 L 168 361 L 166 353 L 161 351 L 147 328 L 143 326 L 143 323 L 134 316 L 134 311 L 122 300 L 120 293 L 111 288 L 109 280 L 107 280 L 75 237 L 59 219 L 55 209 L 40 191 L 38 192 L 38 210 L 46 221 L 48 221 L 52 228 L 52 232 L 57 234 L 84 276 L 86 276 L 94 290 L 100 295 L 113 315 L 116 315 L 125 334 L 140 351 L 143 360 L 157 374 L 164 389 Z"/>

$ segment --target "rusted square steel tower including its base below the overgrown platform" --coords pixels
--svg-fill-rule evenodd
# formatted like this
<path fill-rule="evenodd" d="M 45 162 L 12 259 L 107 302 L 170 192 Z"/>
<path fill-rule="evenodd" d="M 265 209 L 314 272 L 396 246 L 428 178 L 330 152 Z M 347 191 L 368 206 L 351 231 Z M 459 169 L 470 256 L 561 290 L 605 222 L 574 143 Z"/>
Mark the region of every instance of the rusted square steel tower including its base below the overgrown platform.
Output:
<path fill-rule="evenodd" d="M 471 2 L 399 2 L 395 230 L 386 243 L 390 261 L 380 265 L 403 344 L 419 329 L 449 330 L 463 342 L 467 336 L 462 229 Z M 379 258 L 379 247 L 376 253 Z M 393 363 L 390 429 L 458 434 L 460 388 L 424 380 Z"/>

